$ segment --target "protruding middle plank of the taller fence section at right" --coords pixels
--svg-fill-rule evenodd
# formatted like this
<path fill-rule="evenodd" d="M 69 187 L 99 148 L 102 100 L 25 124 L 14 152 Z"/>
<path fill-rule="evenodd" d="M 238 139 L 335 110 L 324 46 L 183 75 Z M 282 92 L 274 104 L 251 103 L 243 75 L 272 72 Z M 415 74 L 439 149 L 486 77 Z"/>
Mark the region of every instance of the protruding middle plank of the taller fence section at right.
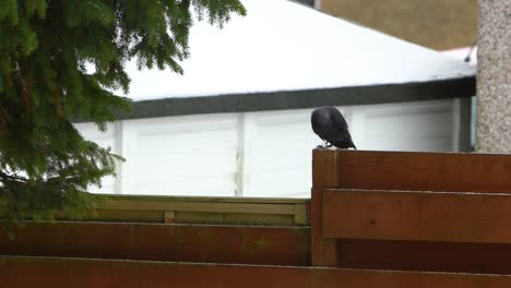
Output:
<path fill-rule="evenodd" d="M 511 243 L 511 195 L 323 191 L 323 237 Z"/>

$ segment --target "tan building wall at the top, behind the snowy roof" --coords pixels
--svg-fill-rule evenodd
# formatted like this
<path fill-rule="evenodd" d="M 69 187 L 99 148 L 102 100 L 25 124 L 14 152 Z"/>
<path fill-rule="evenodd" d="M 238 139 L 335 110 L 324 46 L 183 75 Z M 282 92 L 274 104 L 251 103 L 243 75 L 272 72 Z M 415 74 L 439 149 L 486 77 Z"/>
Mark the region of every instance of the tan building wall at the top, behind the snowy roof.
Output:
<path fill-rule="evenodd" d="M 326 13 L 436 50 L 471 46 L 477 37 L 477 0 L 317 1 Z"/>

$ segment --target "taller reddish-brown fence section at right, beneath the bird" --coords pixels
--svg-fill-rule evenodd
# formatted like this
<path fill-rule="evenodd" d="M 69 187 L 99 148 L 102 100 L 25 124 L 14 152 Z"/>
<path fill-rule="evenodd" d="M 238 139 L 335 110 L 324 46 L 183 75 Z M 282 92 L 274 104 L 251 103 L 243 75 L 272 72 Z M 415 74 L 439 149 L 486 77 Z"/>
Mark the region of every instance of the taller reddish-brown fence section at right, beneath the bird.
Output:
<path fill-rule="evenodd" d="M 314 151 L 312 265 L 511 273 L 511 155 Z"/>

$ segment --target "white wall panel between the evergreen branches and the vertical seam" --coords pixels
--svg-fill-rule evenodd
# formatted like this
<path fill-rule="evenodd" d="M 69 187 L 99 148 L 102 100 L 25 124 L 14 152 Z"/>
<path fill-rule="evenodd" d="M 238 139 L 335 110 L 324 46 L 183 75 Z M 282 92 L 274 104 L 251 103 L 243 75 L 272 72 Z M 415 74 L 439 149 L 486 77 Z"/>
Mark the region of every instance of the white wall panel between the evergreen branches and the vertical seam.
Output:
<path fill-rule="evenodd" d="M 123 194 L 234 196 L 235 115 L 123 121 Z"/>

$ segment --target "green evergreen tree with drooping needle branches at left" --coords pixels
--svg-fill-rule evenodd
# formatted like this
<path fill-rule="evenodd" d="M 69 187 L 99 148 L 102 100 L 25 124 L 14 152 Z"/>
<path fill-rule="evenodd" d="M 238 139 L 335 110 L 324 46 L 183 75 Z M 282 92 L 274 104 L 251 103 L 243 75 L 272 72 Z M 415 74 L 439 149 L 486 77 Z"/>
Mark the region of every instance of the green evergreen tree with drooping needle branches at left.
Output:
<path fill-rule="evenodd" d="M 182 73 L 193 14 L 223 25 L 238 0 L 0 0 L 0 214 L 80 217 L 86 193 L 119 156 L 86 141 L 73 119 L 98 129 L 130 108 L 124 64 Z"/>

